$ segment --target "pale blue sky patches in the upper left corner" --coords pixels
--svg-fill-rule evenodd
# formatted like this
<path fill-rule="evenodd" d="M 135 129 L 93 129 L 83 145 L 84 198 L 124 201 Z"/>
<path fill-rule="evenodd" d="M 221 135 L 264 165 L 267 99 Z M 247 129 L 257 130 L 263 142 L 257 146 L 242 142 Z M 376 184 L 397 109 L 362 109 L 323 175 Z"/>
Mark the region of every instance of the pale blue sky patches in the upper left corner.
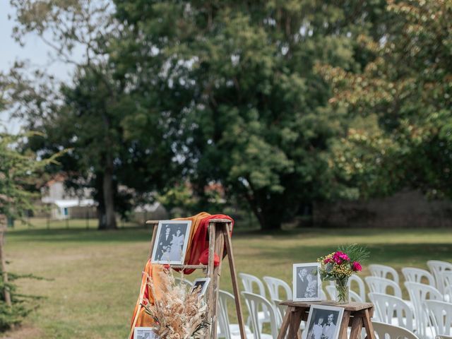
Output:
<path fill-rule="evenodd" d="M 12 18 L 8 19 L 8 15 Z M 25 39 L 25 46 L 21 47 L 11 34 L 14 27 L 15 11 L 9 0 L 0 0 L 0 72 L 8 72 L 16 60 L 28 60 L 31 66 L 46 69 L 62 81 L 69 80 L 73 67 L 61 62 L 49 64 L 51 50 L 37 35 L 29 35 Z M 20 131 L 21 123 L 18 119 L 10 119 L 10 112 L 0 112 L 0 126 L 9 133 Z M 1 128 L 0 128 L 1 129 Z"/>

